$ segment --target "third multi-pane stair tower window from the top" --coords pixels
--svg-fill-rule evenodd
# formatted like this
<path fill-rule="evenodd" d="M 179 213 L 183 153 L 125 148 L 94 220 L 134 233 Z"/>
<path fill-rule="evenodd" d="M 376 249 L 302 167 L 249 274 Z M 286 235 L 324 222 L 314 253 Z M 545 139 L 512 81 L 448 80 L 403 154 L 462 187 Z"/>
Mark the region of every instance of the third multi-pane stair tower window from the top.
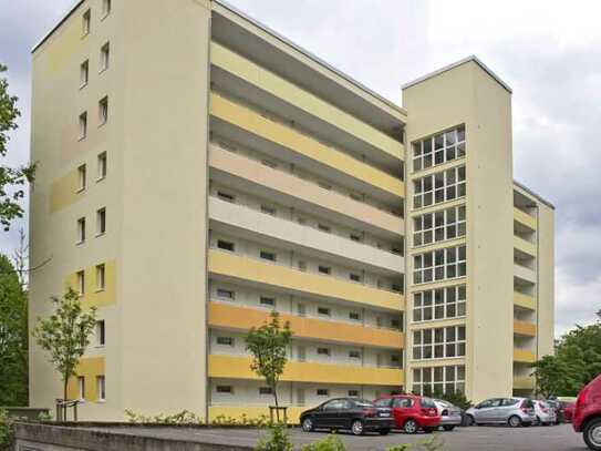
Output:
<path fill-rule="evenodd" d="M 427 213 L 413 219 L 414 246 L 459 238 L 465 233 L 465 205 Z"/>

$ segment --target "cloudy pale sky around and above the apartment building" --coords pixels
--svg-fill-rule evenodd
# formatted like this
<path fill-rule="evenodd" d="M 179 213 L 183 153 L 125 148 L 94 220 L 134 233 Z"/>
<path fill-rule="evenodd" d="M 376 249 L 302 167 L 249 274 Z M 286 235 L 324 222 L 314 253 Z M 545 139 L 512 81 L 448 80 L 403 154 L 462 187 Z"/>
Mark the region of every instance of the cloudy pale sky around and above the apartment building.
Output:
<path fill-rule="evenodd" d="M 127 0 L 116 0 L 127 1 Z M 164 0 L 189 1 L 189 0 Z M 514 176 L 556 205 L 556 336 L 601 309 L 601 2 L 229 0 L 395 103 L 401 85 L 476 54 L 512 90 Z M 18 4 L 18 7 L 17 7 Z M 29 160 L 30 50 L 73 0 L 0 0 L 0 63 Z M 17 230 L 0 232 L 12 253 Z"/>

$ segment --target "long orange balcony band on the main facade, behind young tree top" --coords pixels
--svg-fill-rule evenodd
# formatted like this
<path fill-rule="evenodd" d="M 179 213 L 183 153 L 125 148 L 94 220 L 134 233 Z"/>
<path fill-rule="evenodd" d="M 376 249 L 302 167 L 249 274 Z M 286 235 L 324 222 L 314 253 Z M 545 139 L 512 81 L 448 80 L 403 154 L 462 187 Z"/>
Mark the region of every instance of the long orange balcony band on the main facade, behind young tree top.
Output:
<path fill-rule="evenodd" d="M 209 303 L 209 327 L 228 330 L 248 330 L 259 327 L 269 319 L 270 311 L 238 307 L 225 303 Z M 282 321 L 289 321 L 294 337 L 334 344 L 356 344 L 377 348 L 402 349 L 404 335 L 397 330 L 377 329 L 342 321 L 280 314 Z"/>

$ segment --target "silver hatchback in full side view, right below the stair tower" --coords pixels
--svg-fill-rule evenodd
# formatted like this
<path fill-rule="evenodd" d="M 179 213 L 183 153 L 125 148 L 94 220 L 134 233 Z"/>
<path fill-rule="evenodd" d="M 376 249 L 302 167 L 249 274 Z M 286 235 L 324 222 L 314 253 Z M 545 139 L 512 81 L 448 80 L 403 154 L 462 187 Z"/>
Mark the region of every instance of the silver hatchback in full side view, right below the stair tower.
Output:
<path fill-rule="evenodd" d="M 501 423 L 511 428 L 536 421 L 535 404 L 528 398 L 491 398 L 466 410 L 469 424 Z"/>

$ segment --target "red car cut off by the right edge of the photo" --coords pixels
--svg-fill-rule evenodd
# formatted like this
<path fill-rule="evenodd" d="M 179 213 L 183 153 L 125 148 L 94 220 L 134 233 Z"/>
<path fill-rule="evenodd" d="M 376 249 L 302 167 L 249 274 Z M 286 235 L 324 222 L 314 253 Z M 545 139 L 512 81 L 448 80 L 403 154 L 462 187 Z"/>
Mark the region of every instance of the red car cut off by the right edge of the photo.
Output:
<path fill-rule="evenodd" d="M 591 450 L 601 451 L 601 375 L 578 393 L 572 427 Z"/>

